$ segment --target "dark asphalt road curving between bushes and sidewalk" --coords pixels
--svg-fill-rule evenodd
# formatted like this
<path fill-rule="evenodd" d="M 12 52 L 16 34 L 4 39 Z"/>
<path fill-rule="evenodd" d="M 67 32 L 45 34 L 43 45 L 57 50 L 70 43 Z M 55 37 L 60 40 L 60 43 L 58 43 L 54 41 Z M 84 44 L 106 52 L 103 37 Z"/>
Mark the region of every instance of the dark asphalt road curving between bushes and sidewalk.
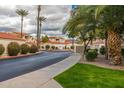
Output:
<path fill-rule="evenodd" d="M 71 52 L 43 52 L 33 56 L 0 60 L 0 82 L 60 62 Z"/>

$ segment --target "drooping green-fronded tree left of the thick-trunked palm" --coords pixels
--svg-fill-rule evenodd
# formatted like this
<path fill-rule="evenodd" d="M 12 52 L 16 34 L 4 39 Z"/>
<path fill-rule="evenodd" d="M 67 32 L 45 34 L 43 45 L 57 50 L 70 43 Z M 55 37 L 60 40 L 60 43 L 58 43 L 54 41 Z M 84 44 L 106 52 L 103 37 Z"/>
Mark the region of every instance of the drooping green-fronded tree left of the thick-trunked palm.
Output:
<path fill-rule="evenodd" d="M 79 6 L 75 15 L 71 16 L 65 24 L 63 31 L 75 34 L 84 43 L 84 53 L 88 44 L 95 39 L 95 6 Z"/>

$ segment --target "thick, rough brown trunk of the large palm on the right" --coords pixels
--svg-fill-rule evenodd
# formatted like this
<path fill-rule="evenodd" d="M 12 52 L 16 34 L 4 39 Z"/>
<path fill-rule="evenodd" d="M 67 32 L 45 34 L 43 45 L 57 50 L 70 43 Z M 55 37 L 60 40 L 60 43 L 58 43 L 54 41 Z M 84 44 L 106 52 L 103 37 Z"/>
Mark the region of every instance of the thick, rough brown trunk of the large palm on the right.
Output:
<path fill-rule="evenodd" d="M 117 32 L 108 31 L 108 52 L 112 64 L 121 64 L 121 39 Z"/>

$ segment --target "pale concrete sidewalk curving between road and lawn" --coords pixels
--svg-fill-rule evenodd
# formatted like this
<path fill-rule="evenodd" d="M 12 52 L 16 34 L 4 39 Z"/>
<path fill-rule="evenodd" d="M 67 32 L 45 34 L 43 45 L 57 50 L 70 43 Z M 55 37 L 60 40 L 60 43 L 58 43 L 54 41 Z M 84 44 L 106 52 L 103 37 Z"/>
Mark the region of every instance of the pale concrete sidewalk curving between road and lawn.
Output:
<path fill-rule="evenodd" d="M 79 54 L 73 54 L 72 56 L 48 66 L 46 68 L 18 76 L 7 81 L 0 82 L 0 87 L 5 88 L 42 88 L 42 87 L 51 87 L 57 88 L 61 87 L 53 77 L 64 72 L 80 60 Z"/>

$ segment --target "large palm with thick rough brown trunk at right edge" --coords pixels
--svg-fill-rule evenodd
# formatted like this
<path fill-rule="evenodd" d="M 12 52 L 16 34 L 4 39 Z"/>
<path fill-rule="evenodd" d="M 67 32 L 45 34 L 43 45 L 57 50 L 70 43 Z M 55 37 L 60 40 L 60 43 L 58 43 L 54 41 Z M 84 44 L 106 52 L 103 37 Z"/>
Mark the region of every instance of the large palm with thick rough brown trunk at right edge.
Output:
<path fill-rule="evenodd" d="M 96 17 L 108 35 L 108 55 L 115 65 L 121 63 L 121 34 L 124 32 L 124 6 L 98 6 Z"/>

